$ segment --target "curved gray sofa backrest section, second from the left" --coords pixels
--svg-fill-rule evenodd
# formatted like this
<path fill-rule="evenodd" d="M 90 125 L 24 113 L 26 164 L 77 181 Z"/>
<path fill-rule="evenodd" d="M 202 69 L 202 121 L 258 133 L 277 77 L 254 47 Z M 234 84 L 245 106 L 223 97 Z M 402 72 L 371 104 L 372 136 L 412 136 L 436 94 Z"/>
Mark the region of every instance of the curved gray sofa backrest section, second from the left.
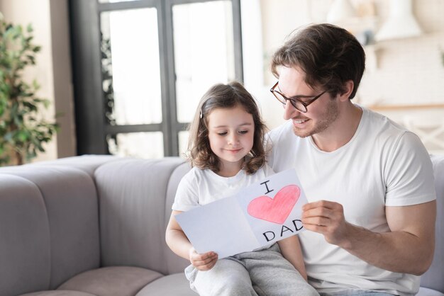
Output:
<path fill-rule="evenodd" d="M 55 289 L 78 273 L 99 268 L 99 209 L 91 176 L 69 166 L 50 164 L 2 171 L 26 178 L 43 196 L 48 215 L 45 221 L 50 227 L 50 283 L 36 290 Z"/>

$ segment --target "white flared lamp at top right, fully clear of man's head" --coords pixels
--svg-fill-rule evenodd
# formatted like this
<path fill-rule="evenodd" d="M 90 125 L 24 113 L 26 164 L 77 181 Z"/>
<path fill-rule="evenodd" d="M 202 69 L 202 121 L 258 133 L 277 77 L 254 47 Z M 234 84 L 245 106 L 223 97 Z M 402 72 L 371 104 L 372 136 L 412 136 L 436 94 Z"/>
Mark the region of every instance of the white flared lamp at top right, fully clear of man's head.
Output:
<path fill-rule="evenodd" d="M 408 38 L 422 31 L 411 11 L 411 0 L 390 0 L 389 19 L 374 36 L 377 41 Z"/>

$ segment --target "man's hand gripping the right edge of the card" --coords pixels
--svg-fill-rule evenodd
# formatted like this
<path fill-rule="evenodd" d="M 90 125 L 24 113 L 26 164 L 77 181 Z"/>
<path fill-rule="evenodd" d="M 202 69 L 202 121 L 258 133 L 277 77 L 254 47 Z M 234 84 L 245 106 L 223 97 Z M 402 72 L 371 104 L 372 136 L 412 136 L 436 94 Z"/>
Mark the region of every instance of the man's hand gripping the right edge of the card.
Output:
<path fill-rule="evenodd" d="M 345 221 L 340 203 L 319 200 L 302 207 L 302 223 L 305 229 L 323 234 L 330 244 L 345 247 L 350 224 Z"/>

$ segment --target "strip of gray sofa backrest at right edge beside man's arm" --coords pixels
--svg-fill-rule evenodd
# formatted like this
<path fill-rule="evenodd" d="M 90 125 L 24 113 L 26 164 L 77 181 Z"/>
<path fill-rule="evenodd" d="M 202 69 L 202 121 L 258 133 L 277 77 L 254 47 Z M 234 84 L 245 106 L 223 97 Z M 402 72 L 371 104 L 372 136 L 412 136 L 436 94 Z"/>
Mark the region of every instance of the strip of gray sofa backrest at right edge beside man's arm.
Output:
<path fill-rule="evenodd" d="M 435 256 L 426 273 L 421 276 L 421 287 L 444 293 L 444 156 L 431 156 L 436 189 Z"/>

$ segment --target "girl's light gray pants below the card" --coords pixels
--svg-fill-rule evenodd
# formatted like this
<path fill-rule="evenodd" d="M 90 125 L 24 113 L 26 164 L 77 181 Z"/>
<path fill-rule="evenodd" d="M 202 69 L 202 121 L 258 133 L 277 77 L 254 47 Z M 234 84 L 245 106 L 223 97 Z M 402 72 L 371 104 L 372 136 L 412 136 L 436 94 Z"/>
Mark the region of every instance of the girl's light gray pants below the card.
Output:
<path fill-rule="evenodd" d="M 185 269 L 192 290 L 201 296 L 318 296 L 280 253 L 269 249 L 245 252 L 219 260 L 209 271 Z"/>

